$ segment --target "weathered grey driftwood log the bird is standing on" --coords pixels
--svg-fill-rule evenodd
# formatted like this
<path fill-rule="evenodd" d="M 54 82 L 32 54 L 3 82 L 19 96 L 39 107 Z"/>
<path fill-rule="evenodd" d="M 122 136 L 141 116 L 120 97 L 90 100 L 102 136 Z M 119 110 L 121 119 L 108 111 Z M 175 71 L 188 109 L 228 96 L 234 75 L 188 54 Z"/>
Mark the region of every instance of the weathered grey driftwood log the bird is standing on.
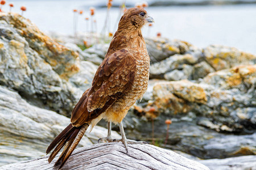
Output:
<path fill-rule="evenodd" d="M 77 148 L 62 169 L 209 169 L 173 151 L 152 145 L 101 143 Z M 59 155 L 48 164 L 48 156 L 8 164 L 0 169 L 58 169 L 53 167 Z"/>

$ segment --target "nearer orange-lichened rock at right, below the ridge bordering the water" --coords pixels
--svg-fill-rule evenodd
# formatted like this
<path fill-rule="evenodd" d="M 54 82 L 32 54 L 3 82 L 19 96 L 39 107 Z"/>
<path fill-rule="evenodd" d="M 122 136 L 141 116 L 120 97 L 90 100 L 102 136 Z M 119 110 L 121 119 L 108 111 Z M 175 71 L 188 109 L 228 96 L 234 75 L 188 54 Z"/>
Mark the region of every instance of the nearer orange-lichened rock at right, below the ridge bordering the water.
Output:
<path fill-rule="evenodd" d="M 255 84 L 256 65 L 237 66 L 211 73 L 200 83 L 156 83 L 148 106 L 170 116 L 193 112 L 207 117 L 199 125 L 216 131 L 251 133 L 256 126 Z"/>

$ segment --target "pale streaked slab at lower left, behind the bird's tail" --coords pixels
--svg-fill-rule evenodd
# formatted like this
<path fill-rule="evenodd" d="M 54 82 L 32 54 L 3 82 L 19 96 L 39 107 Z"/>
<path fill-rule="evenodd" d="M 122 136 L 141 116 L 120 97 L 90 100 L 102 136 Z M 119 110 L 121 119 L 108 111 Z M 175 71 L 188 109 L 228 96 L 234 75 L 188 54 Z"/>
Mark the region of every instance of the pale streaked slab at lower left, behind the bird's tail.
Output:
<path fill-rule="evenodd" d="M 46 155 L 49 143 L 68 124 L 69 118 L 30 105 L 17 92 L 0 86 L 0 165 Z M 96 126 L 79 147 L 92 145 L 106 134 L 107 129 Z M 115 131 L 113 135 L 121 138 Z"/>

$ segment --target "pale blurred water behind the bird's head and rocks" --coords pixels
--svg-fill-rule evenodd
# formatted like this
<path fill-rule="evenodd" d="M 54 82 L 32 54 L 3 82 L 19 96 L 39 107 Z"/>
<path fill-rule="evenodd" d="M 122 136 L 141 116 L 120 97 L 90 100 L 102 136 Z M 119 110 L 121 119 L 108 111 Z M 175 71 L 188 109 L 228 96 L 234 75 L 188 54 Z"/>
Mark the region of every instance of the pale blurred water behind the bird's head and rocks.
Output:
<path fill-rule="evenodd" d="M 19 12 L 24 5 L 24 14 L 43 31 L 73 33 L 73 8 L 84 10 L 79 16 L 78 31 L 85 31 L 85 17 L 89 16 L 89 6 L 104 1 L 22 1 L 14 0 L 13 11 Z M 121 3 L 121 1 L 120 1 Z M 3 10 L 9 10 L 4 6 Z M 163 37 L 189 41 L 193 45 L 205 47 L 209 44 L 234 46 L 256 54 L 256 5 L 228 6 L 170 6 L 148 7 L 148 13 L 155 19 L 150 28 L 143 28 L 144 36 L 155 36 L 161 32 Z M 119 9 L 112 8 L 110 13 L 111 32 L 118 18 Z M 105 8 L 96 8 L 98 32 L 104 25 Z"/>

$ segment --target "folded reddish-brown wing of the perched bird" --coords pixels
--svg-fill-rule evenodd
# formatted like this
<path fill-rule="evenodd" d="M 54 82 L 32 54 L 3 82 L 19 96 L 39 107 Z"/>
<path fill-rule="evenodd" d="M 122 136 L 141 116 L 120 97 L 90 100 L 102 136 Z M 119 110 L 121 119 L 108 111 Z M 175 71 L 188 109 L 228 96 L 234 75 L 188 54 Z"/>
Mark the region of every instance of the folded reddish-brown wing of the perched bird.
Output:
<path fill-rule="evenodd" d="M 135 69 L 136 61 L 126 49 L 106 56 L 96 71 L 92 87 L 84 92 L 73 109 L 72 124 L 81 126 L 92 121 L 125 95 L 133 84 Z"/>

